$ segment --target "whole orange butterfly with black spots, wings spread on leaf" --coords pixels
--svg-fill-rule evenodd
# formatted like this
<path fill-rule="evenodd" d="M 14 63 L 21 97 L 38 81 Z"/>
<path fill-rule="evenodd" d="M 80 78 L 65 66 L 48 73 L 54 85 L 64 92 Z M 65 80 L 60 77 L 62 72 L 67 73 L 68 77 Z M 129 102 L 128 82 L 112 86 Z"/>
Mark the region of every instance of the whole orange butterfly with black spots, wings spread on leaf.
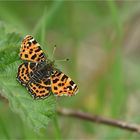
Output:
<path fill-rule="evenodd" d="M 24 62 L 18 67 L 17 80 L 34 99 L 46 98 L 50 93 L 72 96 L 78 92 L 78 86 L 54 67 L 54 61 L 46 57 L 40 44 L 31 35 L 27 35 L 21 43 L 20 58 Z"/>

